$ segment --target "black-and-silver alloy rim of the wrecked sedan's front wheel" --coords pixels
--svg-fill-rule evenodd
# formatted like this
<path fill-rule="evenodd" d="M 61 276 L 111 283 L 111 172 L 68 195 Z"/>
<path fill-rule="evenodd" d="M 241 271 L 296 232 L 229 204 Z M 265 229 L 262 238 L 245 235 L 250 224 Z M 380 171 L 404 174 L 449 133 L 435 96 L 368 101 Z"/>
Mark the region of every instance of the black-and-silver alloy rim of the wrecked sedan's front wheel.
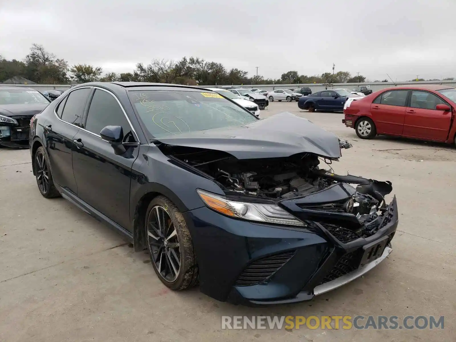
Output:
<path fill-rule="evenodd" d="M 164 207 L 157 205 L 149 213 L 147 243 L 160 276 L 167 282 L 175 281 L 181 270 L 181 249 L 176 227 Z"/>

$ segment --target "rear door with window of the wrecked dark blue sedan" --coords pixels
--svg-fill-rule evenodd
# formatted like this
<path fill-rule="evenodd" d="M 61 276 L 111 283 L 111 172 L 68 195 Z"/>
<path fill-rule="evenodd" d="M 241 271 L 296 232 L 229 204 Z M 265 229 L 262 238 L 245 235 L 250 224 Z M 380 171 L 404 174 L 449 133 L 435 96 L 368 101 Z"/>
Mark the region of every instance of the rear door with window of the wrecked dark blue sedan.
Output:
<path fill-rule="evenodd" d="M 56 108 L 58 120 L 46 123 L 44 139 L 52 166 L 52 178 L 74 194 L 78 193 L 73 175 L 73 137 L 82 125 L 84 109 L 92 88 L 78 88 L 69 93 Z"/>

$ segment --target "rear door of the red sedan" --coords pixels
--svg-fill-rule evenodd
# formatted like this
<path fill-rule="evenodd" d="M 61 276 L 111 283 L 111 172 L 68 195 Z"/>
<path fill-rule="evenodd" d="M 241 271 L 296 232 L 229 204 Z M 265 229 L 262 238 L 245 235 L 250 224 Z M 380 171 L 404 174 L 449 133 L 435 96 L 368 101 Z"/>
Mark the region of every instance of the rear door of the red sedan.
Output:
<path fill-rule="evenodd" d="M 409 90 L 389 90 L 373 100 L 370 112 L 377 133 L 402 135 Z"/>

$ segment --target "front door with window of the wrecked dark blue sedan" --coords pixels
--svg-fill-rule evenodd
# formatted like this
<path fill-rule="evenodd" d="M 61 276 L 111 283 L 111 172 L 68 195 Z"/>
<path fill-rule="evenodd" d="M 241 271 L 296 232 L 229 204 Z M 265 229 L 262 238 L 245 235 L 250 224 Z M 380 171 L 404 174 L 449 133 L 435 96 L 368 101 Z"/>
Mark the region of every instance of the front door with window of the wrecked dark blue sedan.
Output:
<path fill-rule="evenodd" d="M 114 149 L 101 139 L 108 125 L 122 126 L 126 152 Z M 78 197 L 125 229 L 130 229 L 130 179 L 138 156 L 133 130 L 114 95 L 95 89 L 83 125 L 73 138 L 73 171 Z M 137 139 L 137 138 L 136 138 Z"/>

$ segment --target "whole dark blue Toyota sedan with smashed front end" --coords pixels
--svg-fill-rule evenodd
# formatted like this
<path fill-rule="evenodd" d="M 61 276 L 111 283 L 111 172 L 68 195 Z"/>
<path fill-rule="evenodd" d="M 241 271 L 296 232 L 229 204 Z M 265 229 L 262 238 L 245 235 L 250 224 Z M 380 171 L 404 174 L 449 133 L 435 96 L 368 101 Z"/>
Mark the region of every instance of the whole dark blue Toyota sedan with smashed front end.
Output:
<path fill-rule="evenodd" d="M 391 252 L 391 183 L 318 167 L 341 147 L 293 114 L 258 119 L 216 92 L 158 83 L 78 85 L 30 130 L 42 196 L 147 249 L 169 288 L 199 280 L 246 305 L 310 300 Z"/>

